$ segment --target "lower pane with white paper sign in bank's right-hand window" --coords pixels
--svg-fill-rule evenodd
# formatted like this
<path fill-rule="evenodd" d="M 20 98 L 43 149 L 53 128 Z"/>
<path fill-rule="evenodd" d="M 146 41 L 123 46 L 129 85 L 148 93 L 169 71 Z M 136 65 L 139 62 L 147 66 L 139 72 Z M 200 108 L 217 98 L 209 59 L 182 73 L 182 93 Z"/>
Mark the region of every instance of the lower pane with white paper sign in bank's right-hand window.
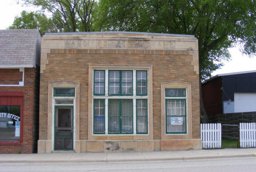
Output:
<path fill-rule="evenodd" d="M 172 132 L 185 132 L 185 117 L 172 117 L 167 116 L 166 118 L 166 132 L 172 133 Z"/>

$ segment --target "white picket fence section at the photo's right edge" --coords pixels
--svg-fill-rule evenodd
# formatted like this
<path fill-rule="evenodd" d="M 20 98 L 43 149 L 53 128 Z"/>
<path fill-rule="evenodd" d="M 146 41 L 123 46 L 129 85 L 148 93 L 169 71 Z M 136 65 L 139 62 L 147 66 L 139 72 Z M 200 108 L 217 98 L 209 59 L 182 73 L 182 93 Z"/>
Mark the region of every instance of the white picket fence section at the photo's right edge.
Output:
<path fill-rule="evenodd" d="M 240 147 L 256 147 L 256 123 L 240 123 Z"/>

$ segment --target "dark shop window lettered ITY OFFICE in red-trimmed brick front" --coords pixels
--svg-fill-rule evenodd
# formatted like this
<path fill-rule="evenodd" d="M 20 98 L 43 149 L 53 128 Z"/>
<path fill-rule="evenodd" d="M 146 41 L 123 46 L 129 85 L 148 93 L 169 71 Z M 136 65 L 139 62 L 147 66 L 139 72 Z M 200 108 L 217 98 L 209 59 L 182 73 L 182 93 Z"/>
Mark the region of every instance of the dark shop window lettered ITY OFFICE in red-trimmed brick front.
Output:
<path fill-rule="evenodd" d="M 20 140 L 20 106 L 0 106 L 0 140 Z"/>

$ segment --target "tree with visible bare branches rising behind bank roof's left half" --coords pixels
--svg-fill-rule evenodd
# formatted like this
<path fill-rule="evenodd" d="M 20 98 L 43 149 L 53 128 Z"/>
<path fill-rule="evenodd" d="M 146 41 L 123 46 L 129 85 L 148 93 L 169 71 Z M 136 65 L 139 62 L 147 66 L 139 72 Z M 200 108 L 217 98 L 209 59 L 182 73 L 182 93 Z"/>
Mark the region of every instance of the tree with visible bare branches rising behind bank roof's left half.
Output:
<path fill-rule="evenodd" d="M 27 5 L 42 7 L 53 15 L 59 32 L 88 32 L 92 30 L 95 0 L 22 0 Z"/>

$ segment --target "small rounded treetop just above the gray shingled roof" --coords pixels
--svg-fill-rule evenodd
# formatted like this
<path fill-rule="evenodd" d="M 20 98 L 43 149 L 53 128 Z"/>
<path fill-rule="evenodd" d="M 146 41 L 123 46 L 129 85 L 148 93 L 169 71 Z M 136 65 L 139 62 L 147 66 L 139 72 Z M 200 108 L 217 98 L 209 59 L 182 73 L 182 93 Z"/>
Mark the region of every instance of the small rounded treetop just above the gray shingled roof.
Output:
<path fill-rule="evenodd" d="M 39 29 L 41 35 L 45 32 L 56 32 L 57 28 L 54 22 L 39 12 L 22 11 L 21 16 L 16 16 L 13 25 L 9 29 Z"/>

